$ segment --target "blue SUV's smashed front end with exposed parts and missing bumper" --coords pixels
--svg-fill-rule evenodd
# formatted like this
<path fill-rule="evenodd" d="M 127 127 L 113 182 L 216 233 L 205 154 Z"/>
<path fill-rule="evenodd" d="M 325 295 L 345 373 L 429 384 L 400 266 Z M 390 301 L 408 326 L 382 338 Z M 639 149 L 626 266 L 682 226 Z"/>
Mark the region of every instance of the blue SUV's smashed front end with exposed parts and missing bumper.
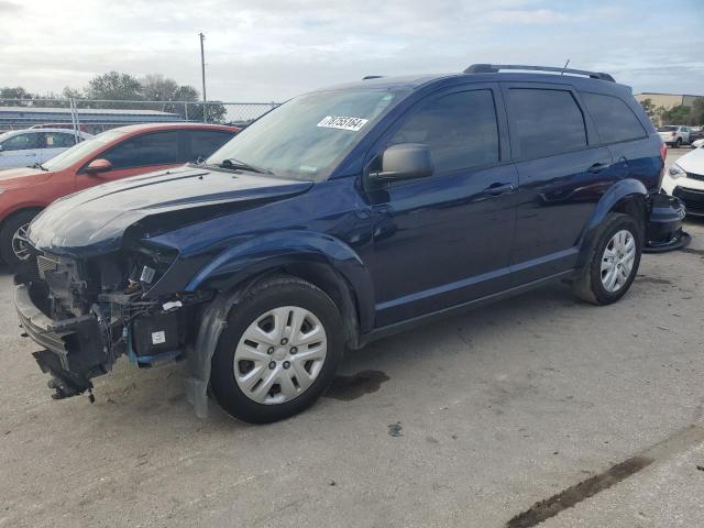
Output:
<path fill-rule="evenodd" d="M 139 366 L 180 359 L 195 339 L 200 305 L 209 292 L 154 296 L 175 250 L 140 241 L 112 254 L 74 260 L 35 252 L 15 277 L 15 306 L 24 333 L 52 376 L 54 398 L 92 389 L 121 355 Z"/>

